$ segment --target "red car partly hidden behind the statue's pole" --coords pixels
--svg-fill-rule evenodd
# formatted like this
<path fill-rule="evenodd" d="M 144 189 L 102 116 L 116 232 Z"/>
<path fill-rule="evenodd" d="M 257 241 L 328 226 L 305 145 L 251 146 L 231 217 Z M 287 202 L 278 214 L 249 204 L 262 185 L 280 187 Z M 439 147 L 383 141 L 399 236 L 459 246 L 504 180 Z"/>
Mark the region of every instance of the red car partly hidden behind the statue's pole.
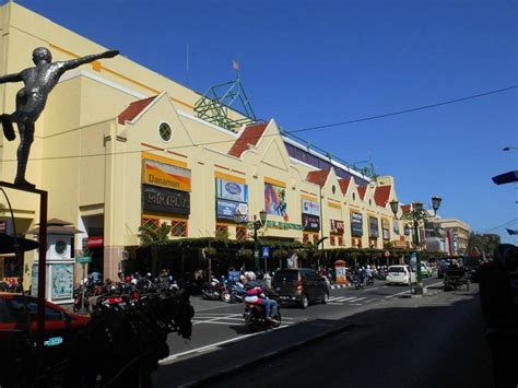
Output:
<path fill-rule="evenodd" d="M 36 340 L 37 309 L 38 301 L 34 296 L 0 292 L 0 365 L 5 367 L 5 373 L 0 374 L 0 386 L 9 386 L 10 378 L 23 376 L 27 362 L 34 363 L 31 352 Z M 69 345 L 89 321 L 90 316 L 46 302 L 42 356 L 46 367 L 67 360 Z"/>

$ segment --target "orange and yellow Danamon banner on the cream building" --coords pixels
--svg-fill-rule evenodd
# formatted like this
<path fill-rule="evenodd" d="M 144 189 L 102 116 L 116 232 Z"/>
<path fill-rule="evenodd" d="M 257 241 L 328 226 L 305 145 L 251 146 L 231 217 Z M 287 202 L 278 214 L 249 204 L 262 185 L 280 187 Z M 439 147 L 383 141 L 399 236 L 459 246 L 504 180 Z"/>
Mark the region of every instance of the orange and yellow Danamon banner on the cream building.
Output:
<path fill-rule="evenodd" d="M 173 166 L 144 158 L 142 161 L 142 183 L 175 189 L 190 191 L 190 169 Z"/>

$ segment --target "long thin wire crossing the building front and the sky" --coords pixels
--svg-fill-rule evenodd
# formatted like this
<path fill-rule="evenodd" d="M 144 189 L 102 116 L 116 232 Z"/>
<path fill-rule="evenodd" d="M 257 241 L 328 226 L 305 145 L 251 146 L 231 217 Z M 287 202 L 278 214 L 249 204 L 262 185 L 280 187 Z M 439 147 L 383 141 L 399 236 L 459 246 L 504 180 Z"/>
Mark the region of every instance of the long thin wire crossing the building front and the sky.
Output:
<path fill-rule="evenodd" d="M 267 138 L 267 137 L 279 136 L 279 134 L 280 136 L 286 136 L 286 134 L 287 136 L 293 136 L 293 133 L 298 133 L 298 132 L 306 132 L 306 131 L 313 131 L 313 130 L 317 130 L 317 129 L 327 129 L 327 128 L 332 128 L 332 127 L 346 126 L 346 125 L 363 122 L 363 121 L 378 120 L 378 119 L 386 118 L 386 117 L 404 115 L 404 114 L 419 111 L 419 110 L 424 110 L 424 109 L 432 109 L 432 108 L 436 108 L 436 107 L 445 106 L 445 105 L 449 105 L 449 104 L 457 104 L 457 103 L 461 103 L 461 102 L 464 102 L 464 101 L 485 97 L 485 96 L 488 96 L 488 95 L 503 93 L 503 92 L 508 92 L 508 91 L 516 90 L 516 89 L 518 89 L 518 85 L 513 85 L 513 86 L 498 89 L 498 90 L 494 90 L 494 91 L 490 91 L 490 92 L 473 94 L 473 95 L 470 95 L 470 96 L 467 96 L 467 97 L 449 99 L 449 101 L 445 101 L 445 102 L 442 102 L 442 103 L 423 105 L 423 106 L 415 107 L 415 108 L 397 110 L 397 111 L 392 111 L 392 113 L 388 113 L 388 114 L 367 116 L 367 117 L 353 119 L 353 120 L 346 120 L 346 121 L 327 124 L 327 125 L 321 125 L 321 126 L 294 129 L 294 130 L 290 130 L 290 131 L 282 131 L 281 133 L 270 133 L 270 134 L 260 134 L 260 136 L 254 136 L 254 137 L 246 137 L 245 139 L 246 140 L 254 140 L 254 139 Z M 78 128 L 76 130 L 80 130 L 80 129 L 82 129 L 82 128 Z M 70 132 L 70 131 L 67 131 L 67 132 Z M 164 148 L 163 150 L 164 151 L 167 151 L 167 150 L 181 150 L 181 149 L 189 149 L 189 148 L 196 148 L 196 146 L 215 145 L 215 144 L 222 144 L 222 143 L 234 143 L 236 140 L 237 139 L 228 139 L 228 140 L 219 140 L 219 141 L 209 141 L 209 142 L 198 143 L 198 144 L 175 145 L 175 146 Z M 315 146 L 315 145 L 313 145 L 313 146 Z M 144 149 L 144 150 L 136 150 L 136 151 L 114 152 L 114 153 L 108 153 L 108 154 L 98 153 L 98 154 L 87 154 L 87 155 L 66 155 L 66 156 L 36 157 L 36 158 L 30 158 L 30 161 L 55 161 L 55 160 L 63 160 L 63 158 L 95 157 L 95 156 L 105 156 L 105 155 L 110 155 L 111 156 L 111 155 L 140 153 L 142 151 L 153 152 L 153 151 L 158 151 L 158 150 L 156 150 L 156 149 Z M 2 162 L 15 162 L 15 161 L 16 160 L 3 160 Z M 349 164 L 349 163 L 346 163 L 346 164 Z"/>

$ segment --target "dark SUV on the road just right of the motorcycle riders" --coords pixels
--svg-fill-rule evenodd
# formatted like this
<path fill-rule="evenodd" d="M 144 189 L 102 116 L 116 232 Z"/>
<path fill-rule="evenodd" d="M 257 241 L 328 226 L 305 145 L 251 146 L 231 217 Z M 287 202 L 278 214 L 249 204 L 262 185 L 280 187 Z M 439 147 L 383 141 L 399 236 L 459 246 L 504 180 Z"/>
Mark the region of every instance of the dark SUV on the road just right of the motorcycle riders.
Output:
<path fill-rule="evenodd" d="M 272 289 L 281 303 L 296 303 L 306 308 L 311 302 L 328 303 L 329 287 L 326 279 L 314 269 L 284 269 L 275 272 Z"/>

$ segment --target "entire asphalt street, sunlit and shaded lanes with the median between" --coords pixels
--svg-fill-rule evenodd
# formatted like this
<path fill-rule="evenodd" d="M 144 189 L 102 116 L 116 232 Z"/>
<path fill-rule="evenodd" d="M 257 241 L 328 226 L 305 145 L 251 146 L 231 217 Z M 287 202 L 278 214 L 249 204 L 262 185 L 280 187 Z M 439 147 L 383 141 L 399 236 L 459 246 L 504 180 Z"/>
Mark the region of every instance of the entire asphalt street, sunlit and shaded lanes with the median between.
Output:
<path fill-rule="evenodd" d="M 193 298 L 192 340 L 169 337 L 155 384 L 492 387 L 476 285 L 425 285 L 425 296 L 411 298 L 407 286 L 382 282 L 332 290 L 328 305 L 282 308 L 282 329 L 259 334 L 244 332 L 243 305 Z"/>

